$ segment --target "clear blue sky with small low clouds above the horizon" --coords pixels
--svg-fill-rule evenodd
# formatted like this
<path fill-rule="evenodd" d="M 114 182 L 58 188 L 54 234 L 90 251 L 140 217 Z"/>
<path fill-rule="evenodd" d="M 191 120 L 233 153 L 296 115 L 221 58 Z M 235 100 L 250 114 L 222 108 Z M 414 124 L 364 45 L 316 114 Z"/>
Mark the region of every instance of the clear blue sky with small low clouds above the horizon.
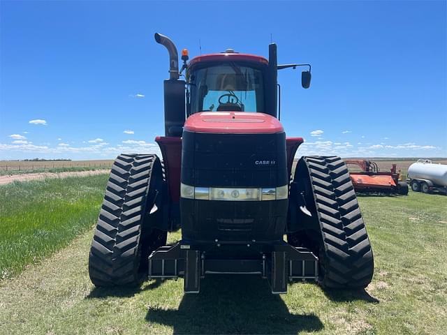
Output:
<path fill-rule="evenodd" d="M 0 159 L 158 152 L 168 53 L 233 47 L 281 70 L 303 154 L 447 156 L 446 1 L 1 1 Z M 37 121 L 36 121 L 37 120 Z M 127 133 L 126 133 L 127 132 Z"/>

